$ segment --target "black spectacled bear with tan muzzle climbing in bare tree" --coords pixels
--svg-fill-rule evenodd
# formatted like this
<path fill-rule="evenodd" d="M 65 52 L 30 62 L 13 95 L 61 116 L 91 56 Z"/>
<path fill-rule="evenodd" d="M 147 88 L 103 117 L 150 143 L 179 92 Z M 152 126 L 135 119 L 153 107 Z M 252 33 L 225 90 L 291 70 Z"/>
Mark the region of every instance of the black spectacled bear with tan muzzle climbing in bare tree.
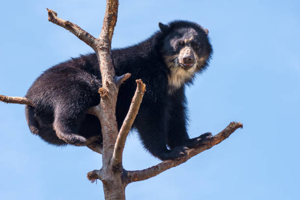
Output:
<path fill-rule="evenodd" d="M 187 21 L 159 23 L 147 40 L 112 50 L 116 75 L 130 73 L 122 84 L 116 106 L 119 129 L 136 89 L 136 79 L 147 85 L 133 123 L 144 147 L 161 160 L 183 156 L 210 137 L 190 139 L 187 133 L 185 85 L 207 67 L 212 54 L 208 30 Z M 95 53 L 81 55 L 46 70 L 29 88 L 25 114 L 29 129 L 46 142 L 85 146 L 102 142 L 98 118 L 87 114 L 100 103 L 101 74 Z"/>

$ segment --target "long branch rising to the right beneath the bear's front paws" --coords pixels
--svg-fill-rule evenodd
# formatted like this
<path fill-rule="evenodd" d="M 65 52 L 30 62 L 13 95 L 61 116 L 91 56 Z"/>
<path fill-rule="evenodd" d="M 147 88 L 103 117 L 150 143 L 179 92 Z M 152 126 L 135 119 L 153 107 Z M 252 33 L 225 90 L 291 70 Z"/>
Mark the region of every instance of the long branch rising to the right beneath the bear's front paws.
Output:
<path fill-rule="evenodd" d="M 176 160 L 165 160 L 155 166 L 152 166 L 145 170 L 137 171 L 126 171 L 128 184 L 135 181 L 146 180 L 155 175 L 158 175 L 172 167 L 176 167 L 184 162 L 186 162 L 191 157 L 199 154 L 204 150 L 208 150 L 213 146 L 219 144 L 223 140 L 229 137 L 236 129 L 243 128 L 241 123 L 232 122 L 224 130 L 215 135 L 214 137 L 208 138 L 208 141 L 205 144 L 200 145 L 199 147 L 188 150 L 186 156 L 178 158 Z"/>

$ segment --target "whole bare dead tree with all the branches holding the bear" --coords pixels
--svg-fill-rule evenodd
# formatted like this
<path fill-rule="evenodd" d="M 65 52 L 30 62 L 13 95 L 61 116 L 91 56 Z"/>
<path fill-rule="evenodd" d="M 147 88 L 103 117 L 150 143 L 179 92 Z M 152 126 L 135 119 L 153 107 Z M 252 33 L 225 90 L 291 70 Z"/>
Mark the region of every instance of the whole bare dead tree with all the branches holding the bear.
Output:
<path fill-rule="evenodd" d="M 130 74 L 116 76 L 110 53 L 114 27 L 117 22 L 118 6 L 119 0 L 106 1 L 105 17 L 99 38 L 90 35 L 78 25 L 58 18 L 53 10 L 47 9 L 49 16 L 48 20 L 50 22 L 62 26 L 72 32 L 80 40 L 93 48 L 98 57 L 102 76 L 102 87 L 99 89 L 101 100 L 98 106 L 91 107 L 87 112 L 96 115 L 100 120 L 103 145 L 89 145 L 88 148 L 102 154 L 102 167 L 100 170 L 89 172 L 87 177 L 91 182 L 94 182 L 97 179 L 102 181 L 105 200 L 125 200 L 125 187 L 129 183 L 148 179 L 172 167 L 176 167 L 200 152 L 219 144 L 229 137 L 229 135 L 237 128 L 243 127 L 241 123 L 232 122 L 220 133 L 209 138 L 205 144 L 201 144 L 194 149 L 188 150 L 187 155 L 184 157 L 175 160 L 166 160 L 144 170 L 126 171 L 122 165 L 125 140 L 138 113 L 139 106 L 146 90 L 146 85 L 142 80 L 136 80 L 136 92 L 131 101 L 123 125 L 120 131 L 118 131 L 115 116 L 117 95 L 120 85 L 130 77 Z M 0 95 L 0 101 L 34 106 L 26 98 L 22 97 L 7 97 Z"/>

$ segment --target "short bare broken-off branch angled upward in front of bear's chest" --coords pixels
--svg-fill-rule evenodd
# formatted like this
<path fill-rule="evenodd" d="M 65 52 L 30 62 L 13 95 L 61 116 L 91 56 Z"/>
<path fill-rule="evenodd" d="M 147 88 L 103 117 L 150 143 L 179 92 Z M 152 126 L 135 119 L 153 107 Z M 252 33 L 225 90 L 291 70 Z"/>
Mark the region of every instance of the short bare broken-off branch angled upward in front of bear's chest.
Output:
<path fill-rule="evenodd" d="M 126 141 L 128 133 L 130 131 L 130 128 L 134 122 L 134 119 L 139 111 L 140 104 L 143 100 L 143 96 L 146 91 L 146 85 L 143 83 L 143 81 L 141 79 L 136 80 L 136 83 L 137 83 L 137 87 L 136 87 L 135 94 L 131 100 L 129 111 L 128 111 L 128 113 L 125 117 L 125 120 L 123 122 L 123 125 L 119 131 L 117 141 L 115 144 L 114 153 L 112 156 L 112 165 L 113 166 L 116 166 L 116 165 L 122 163 L 122 155 L 123 155 L 123 150 L 124 150 L 124 146 L 125 146 L 125 141 Z"/>

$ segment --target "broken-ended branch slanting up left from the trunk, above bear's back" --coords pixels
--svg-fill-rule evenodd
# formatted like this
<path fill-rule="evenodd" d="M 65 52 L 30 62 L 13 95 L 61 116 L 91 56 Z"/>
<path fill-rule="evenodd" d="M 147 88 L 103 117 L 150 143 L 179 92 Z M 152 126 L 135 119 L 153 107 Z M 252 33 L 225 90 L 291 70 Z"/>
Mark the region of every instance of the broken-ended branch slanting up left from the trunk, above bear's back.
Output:
<path fill-rule="evenodd" d="M 57 17 L 57 13 L 51 9 L 46 8 L 48 11 L 48 21 L 52 22 L 55 25 L 59 25 L 64 27 L 65 29 L 72 32 L 75 36 L 77 36 L 80 40 L 85 42 L 88 46 L 95 49 L 95 41 L 97 40 L 94 36 L 80 28 L 78 25 L 73 24 L 72 22 L 60 19 Z"/>

